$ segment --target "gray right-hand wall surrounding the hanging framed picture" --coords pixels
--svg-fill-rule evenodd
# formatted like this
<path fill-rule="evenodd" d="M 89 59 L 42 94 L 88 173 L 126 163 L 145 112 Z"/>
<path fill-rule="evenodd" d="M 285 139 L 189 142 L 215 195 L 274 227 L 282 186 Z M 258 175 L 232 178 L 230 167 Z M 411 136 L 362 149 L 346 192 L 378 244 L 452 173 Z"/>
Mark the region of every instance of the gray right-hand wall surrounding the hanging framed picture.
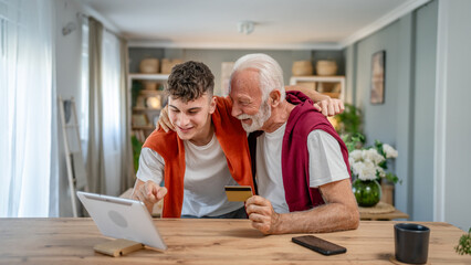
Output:
<path fill-rule="evenodd" d="M 347 102 L 364 113 L 367 145 L 375 139 L 397 148 L 393 170 L 395 204 L 411 220 L 431 221 L 433 213 L 433 113 L 437 2 L 406 14 L 345 49 Z M 371 105 L 371 55 L 386 51 L 385 103 Z"/>

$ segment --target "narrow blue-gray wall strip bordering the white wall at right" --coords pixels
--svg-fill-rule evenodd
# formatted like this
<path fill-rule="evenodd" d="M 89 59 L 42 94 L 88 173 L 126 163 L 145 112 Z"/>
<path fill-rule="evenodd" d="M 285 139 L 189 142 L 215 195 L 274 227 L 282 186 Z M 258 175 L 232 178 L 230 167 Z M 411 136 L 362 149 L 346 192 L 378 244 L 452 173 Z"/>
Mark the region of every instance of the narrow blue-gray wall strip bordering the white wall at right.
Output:
<path fill-rule="evenodd" d="M 433 141 L 436 108 L 437 21 L 438 2 L 433 1 L 417 11 L 415 43 L 414 97 L 414 219 L 433 219 Z M 423 186 L 423 183 L 426 183 Z"/>

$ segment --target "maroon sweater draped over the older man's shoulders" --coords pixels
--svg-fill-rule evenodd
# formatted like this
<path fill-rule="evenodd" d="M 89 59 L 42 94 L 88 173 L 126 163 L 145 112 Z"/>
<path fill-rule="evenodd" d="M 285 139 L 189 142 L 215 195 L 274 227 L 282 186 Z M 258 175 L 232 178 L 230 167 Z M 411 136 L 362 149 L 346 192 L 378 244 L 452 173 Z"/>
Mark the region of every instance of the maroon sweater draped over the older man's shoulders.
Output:
<path fill-rule="evenodd" d="M 287 92 L 286 100 L 296 107 L 290 114 L 283 136 L 281 160 L 284 191 L 290 212 L 305 211 L 324 204 L 318 189 L 310 188 L 310 156 L 306 145 L 310 132 L 321 129 L 338 141 L 350 174 L 348 150 L 327 118 L 313 107 L 311 98 L 301 92 Z"/>

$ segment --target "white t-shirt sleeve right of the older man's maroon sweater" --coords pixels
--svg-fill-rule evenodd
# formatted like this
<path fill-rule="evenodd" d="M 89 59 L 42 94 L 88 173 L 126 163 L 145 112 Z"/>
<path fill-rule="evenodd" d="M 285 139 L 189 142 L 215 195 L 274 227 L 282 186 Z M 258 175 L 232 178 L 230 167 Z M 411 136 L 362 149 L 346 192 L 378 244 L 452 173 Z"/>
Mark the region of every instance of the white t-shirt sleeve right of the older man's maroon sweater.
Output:
<path fill-rule="evenodd" d="M 307 151 L 311 188 L 349 178 L 341 145 L 328 132 L 311 131 L 307 136 Z"/>

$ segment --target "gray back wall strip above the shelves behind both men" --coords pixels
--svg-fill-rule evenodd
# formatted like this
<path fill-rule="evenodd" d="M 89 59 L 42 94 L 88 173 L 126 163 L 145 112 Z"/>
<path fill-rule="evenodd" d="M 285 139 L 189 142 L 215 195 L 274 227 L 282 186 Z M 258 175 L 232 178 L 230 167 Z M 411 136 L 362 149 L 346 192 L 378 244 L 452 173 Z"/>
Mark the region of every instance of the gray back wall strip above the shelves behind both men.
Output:
<path fill-rule="evenodd" d="M 291 68 L 294 61 L 308 60 L 315 62 L 317 60 L 335 60 L 338 65 L 338 74 L 345 73 L 345 59 L 342 51 L 266 51 L 266 50 L 197 50 L 197 49 L 148 49 L 148 47 L 130 47 L 129 49 L 129 71 L 138 72 L 138 64 L 142 59 L 154 56 L 157 59 L 182 59 L 184 61 L 200 61 L 208 65 L 214 75 L 214 94 L 221 95 L 221 63 L 236 62 L 239 57 L 249 53 L 265 53 L 276 60 L 282 70 L 284 83 L 290 83 Z"/>

